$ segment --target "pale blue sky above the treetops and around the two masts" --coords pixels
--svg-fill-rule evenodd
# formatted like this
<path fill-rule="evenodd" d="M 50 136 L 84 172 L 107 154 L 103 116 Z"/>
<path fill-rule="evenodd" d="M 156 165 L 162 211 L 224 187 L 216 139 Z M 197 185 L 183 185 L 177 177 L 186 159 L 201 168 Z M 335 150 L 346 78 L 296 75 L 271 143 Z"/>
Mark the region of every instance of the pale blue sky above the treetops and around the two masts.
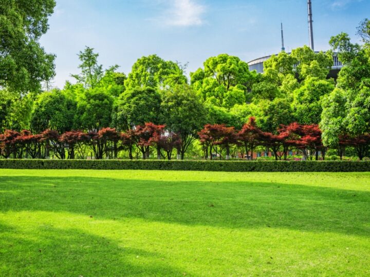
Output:
<path fill-rule="evenodd" d="M 248 62 L 279 52 L 280 22 L 286 51 L 308 44 L 306 0 L 57 0 L 50 29 L 41 39 L 57 55 L 54 86 L 78 73 L 77 53 L 95 48 L 104 67 L 130 72 L 149 54 L 189 63 L 195 71 L 210 56 L 239 56 Z M 312 0 L 315 50 L 327 50 L 330 36 L 369 17 L 370 0 Z"/>

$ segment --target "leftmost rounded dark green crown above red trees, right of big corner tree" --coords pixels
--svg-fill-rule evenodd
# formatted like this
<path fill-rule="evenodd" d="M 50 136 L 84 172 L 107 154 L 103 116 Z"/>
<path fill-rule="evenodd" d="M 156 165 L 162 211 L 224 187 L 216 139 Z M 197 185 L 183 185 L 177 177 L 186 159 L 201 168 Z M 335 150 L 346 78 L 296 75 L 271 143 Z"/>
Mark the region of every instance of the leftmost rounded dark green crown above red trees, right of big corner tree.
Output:
<path fill-rule="evenodd" d="M 59 133 L 70 131 L 76 114 L 76 102 L 62 91 L 54 89 L 36 98 L 31 114 L 30 128 L 40 133 L 46 129 Z"/>

